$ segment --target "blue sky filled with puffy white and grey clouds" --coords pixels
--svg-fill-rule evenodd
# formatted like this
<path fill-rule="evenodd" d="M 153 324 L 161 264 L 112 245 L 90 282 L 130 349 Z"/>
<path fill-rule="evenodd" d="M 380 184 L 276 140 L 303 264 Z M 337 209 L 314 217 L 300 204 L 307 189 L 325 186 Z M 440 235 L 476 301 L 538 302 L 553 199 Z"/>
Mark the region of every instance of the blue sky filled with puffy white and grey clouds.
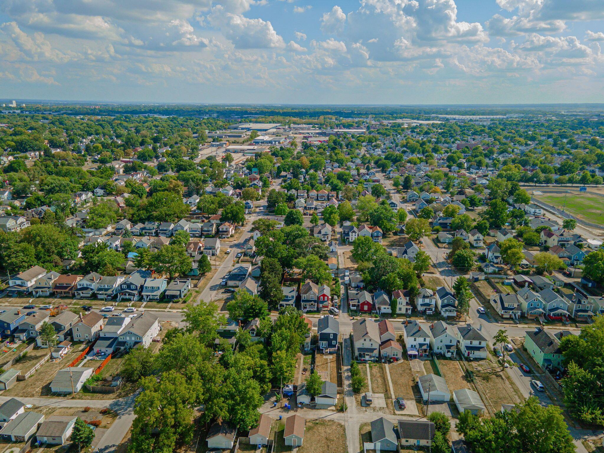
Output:
<path fill-rule="evenodd" d="M 604 0 L 0 0 L 0 98 L 604 102 Z"/>

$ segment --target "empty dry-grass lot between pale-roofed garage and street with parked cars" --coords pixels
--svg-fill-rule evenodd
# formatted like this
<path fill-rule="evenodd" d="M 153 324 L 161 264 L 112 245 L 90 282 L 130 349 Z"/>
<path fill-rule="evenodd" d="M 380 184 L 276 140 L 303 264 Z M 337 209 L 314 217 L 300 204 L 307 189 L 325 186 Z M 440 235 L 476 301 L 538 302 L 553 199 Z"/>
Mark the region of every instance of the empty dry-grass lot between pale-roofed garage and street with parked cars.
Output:
<path fill-rule="evenodd" d="M 501 365 L 494 359 L 469 362 L 469 367 L 474 371 L 477 387 L 486 395 L 484 403 L 487 411 L 494 414 L 501 409 L 502 404 L 521 402 L 520 390 L 507 373 L 501 372 Z"/>

